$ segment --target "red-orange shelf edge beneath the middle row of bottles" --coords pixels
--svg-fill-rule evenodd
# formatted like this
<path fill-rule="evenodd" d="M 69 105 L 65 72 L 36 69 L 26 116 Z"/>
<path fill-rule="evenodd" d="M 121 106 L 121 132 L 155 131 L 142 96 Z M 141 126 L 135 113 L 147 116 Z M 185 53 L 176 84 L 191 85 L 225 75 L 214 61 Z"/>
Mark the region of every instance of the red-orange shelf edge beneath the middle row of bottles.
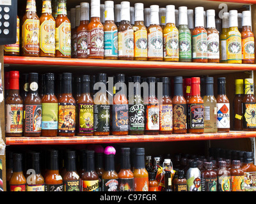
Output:
<path fill-rule="evenodd" d="M 173 142 L 189 140 L 223 140 L 252 138 L 256 131 L 230 131 L 229 133 L 141 135 L 141 136 L 73 136 L 73 137 L 6 137 L 6 145 L 74 145 L 90 143 Z"/>

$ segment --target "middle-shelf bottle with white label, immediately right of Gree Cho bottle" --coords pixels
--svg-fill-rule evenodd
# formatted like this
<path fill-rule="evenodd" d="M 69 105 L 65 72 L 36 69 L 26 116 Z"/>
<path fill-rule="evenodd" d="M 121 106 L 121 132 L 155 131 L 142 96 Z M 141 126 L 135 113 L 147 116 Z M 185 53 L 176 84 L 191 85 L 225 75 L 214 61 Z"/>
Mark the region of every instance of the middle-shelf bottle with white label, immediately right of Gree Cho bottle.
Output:
<path fill-rule="evenodd" d="M 156 77 L 148 77 L 148 98 L 145 99 L 145 135 L 159 134 L 159 101 L 156 98 Z"/>

